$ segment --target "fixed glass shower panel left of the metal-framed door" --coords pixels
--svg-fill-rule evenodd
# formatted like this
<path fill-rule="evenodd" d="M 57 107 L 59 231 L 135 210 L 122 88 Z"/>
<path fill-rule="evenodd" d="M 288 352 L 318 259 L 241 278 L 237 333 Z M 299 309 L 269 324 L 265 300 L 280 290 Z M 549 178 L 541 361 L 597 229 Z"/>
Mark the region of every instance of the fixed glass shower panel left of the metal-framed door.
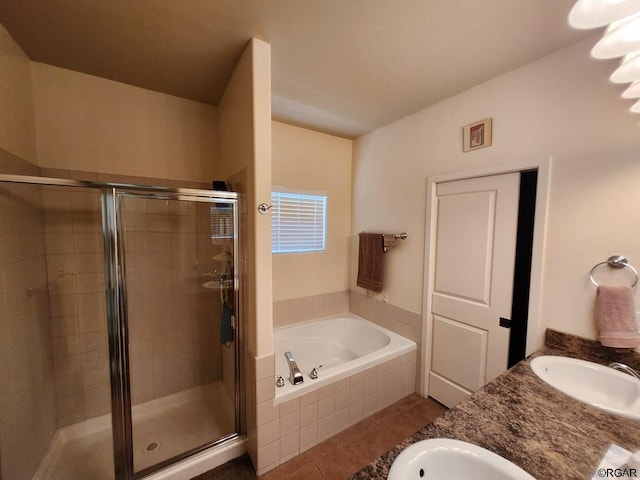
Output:
<path fill-rule="evenodd" d="M 23 178 L 0 180 L 0 478 L 113 480 L 100 191 Z"/>

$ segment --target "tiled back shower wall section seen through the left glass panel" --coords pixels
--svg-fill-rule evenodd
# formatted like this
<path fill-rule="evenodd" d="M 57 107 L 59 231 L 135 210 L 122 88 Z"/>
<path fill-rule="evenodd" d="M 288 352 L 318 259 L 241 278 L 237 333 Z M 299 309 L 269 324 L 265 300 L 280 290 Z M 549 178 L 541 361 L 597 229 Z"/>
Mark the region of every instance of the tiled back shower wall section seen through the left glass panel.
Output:
<path fill-rule="evenodd" d="M 44 186 L 59 426 L 110 411 L 100 192 Z"/>

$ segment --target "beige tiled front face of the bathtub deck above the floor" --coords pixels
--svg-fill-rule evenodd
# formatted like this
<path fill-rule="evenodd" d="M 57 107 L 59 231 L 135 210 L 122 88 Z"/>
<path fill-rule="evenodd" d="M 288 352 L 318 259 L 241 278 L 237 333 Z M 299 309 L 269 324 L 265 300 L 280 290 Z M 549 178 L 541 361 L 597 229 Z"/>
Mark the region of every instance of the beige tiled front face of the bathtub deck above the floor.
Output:
<path fill-rule="evenodd" d="M 251 411 L 248 422 L 249 453 L 258 474 L 276 468 L 410 395 L 414 385 L 407 380 L 415 378 L 415 368 L 416 354 L 412 351 L 274 406 L 273 356 L 256 361 L 256 389 L 248 392 L 248 401 L 255 398 L 257 404 L 253 452 Z M 394 374 L 389 374 L 390 371 Z"/>

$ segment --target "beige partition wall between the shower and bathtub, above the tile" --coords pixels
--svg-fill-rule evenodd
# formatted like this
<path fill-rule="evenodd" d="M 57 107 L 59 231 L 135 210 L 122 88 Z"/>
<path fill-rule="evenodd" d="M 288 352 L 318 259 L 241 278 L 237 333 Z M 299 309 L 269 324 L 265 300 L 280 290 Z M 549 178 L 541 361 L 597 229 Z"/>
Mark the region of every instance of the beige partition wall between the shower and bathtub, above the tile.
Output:
<path fill-rule="evenodd" d="M 243 268 L 247 347 L 259 357 L 273 350 L 271 216 L 257 205 L 271 195 L 271 47 L 252 39 L 219 104 L 219 175 L 245 194 Z M 244 184 L 242 184 L 244 182 Z M 240 184 L 239 184 L 240 183 Z"/>

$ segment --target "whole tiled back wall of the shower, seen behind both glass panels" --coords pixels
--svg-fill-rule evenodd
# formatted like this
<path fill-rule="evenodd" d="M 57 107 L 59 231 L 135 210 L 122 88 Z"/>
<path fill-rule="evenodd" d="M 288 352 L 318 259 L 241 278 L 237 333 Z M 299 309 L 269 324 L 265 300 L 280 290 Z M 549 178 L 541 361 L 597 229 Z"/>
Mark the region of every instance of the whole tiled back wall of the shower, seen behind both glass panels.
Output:
<path fill-rule="evenodd" d="M 206 188 L 202 184 L 43 169 L 76 180 Z M 45 187 L 45 239 L 59 426 L 110 411 L 99 193 Z M 128 201 L 127 199 L 126 201 Z M 135 199 L 125 221 L 134 404 L 221 377 L 209 214 L 185 202 Z M 201 217 L 201 218 L 199 218 Z M 215 312 L 215 314 L 213 314 Z M 212 318 L 213 317 L 213 318 Z M 216 363 L 217 362 L 217 363 Z"/>

